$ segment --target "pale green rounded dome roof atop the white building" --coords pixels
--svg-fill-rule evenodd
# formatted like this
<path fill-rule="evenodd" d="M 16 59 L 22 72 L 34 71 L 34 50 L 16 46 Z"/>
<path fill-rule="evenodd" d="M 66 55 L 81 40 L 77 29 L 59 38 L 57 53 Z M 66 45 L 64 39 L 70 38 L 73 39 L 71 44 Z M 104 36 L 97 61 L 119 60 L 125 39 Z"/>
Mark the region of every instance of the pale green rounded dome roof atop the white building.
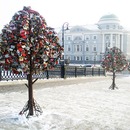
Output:
<path fill-rule="evenodd" d="M 107 24 L 107 23 L 119 23 L 120 20 L 115 14 L 107 14 L 103 15 L 100 19 L 98 24 Z"/>

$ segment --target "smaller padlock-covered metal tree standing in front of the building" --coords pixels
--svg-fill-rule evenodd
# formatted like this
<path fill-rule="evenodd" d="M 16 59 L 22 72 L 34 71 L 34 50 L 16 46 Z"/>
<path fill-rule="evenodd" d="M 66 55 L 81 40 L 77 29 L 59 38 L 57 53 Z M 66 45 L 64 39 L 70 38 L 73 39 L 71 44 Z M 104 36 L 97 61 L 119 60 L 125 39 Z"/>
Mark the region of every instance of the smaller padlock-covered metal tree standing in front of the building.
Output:
<path fill-rule="evenodd" d="M 113 47 L 106 51 L 101 66 L 105 68 L 106 71 L 113 73 L 112 85 L 109 88 L 114 90 L 117 88 L 115 84 L 115 74 L 116 72 L 125 70 L 128 66 L 128 61 L 119 48 Z"/>

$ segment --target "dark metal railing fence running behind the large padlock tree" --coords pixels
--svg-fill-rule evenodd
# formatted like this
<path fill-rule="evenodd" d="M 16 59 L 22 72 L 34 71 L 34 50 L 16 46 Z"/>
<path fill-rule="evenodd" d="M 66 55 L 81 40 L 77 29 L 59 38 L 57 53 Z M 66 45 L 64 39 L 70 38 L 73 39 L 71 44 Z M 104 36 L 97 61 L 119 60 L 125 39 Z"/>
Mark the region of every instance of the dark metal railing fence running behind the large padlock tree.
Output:
<path fill-rule="evenodd" d="M 33 79 L 49 79 L 49 78 L 61 78 L 62 71 L 61 66 L 55 67 L 53 70 L 47 70 L 38 74 L 33 74 Z M 106 75 L 103 68 L 89 68 L 89 67 L 72 67 L 65 66 L 64 77 L 81 77 L 81 76 L 100 76 Z M 0 69 L 0 80 L 22 80 L 27 79 L 26 74 L 13 74 L 11 71 L 5 71 Z"/>

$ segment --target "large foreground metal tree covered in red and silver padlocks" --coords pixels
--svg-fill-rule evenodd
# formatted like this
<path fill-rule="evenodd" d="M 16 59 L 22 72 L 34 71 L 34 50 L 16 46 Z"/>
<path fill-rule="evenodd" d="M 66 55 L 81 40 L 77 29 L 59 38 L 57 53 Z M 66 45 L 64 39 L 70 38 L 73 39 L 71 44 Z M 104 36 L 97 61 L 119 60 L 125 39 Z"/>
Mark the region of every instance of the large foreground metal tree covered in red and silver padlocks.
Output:
<path fill-rule="evenodd" d="M 0 65 L 14 74 L 27 75 L 28 97 L 20 114 L 39 115 L 42 109 L 33 97 L 34 73 L 55 67 L 63 48 L 57 33 L 48 27 L 45 19 L 31 7 L 24 7 L 12 17 L 0 34 Z M 34 113 L 35 112 L 35 113 Z"/>

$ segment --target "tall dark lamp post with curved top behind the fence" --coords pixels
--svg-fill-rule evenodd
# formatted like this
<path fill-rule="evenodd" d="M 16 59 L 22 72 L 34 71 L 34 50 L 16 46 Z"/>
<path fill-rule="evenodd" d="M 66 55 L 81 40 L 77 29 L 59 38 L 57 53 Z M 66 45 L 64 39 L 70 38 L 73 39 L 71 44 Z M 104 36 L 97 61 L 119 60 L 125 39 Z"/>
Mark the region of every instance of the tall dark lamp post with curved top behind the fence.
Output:
<path fill-rule="evenodd" d="M 64 48 L 64 33 L 66 30 L 69 30 L 68 25 L 69 25 L 68 22 L 65 22 L 62 25 L 62 47 L 63 48 Z M 65 78 L 65 48 L 64 48 L 64 54 L 61 60 L 61 78 Z"/>

